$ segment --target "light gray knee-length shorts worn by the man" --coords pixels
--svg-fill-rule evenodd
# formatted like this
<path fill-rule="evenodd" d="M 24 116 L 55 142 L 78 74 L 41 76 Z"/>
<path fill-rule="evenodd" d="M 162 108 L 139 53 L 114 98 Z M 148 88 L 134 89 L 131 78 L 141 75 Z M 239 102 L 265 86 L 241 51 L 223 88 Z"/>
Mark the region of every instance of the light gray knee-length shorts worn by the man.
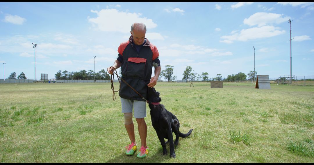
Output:
<path fill-rule="evenodd" d="M 134 118 L 146 117 L 146 102 L 138 100 L 128 100 L 120 98 L 122 113 L 132 113 L 134 108 Z"/>

